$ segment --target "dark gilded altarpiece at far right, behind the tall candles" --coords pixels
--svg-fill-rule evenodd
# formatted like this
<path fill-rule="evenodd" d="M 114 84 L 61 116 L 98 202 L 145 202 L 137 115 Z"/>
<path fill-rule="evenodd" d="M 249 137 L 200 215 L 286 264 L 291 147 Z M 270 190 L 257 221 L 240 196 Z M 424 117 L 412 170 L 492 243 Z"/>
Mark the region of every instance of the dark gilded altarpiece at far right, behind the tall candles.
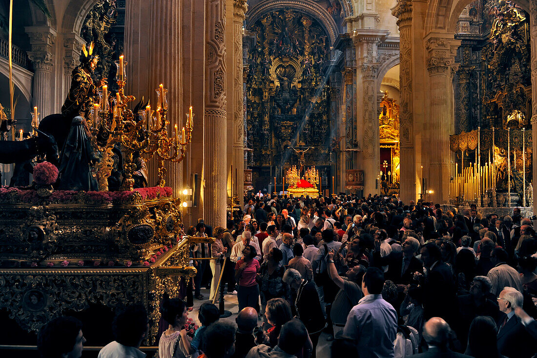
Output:
<path fill-rule="evenodd" d="M 509 1 L 479 0 L 463 10 L 457 32 L 453 160 L 459 173 L 492 163 L 491 186 L 524 204 L 532 185 L 529 16 Z"/>

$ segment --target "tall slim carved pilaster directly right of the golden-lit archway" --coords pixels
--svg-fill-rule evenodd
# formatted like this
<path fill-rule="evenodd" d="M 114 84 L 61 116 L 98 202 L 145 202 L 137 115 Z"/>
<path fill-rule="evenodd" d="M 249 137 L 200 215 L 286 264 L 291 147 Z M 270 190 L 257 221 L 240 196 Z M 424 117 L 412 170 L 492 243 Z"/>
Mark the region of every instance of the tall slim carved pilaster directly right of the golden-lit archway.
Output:
<path fill-rule="evenodd" d="M 412 116 L 412 3 L 401 0 L 391 12 L 399 26 L 400 50 L 400 200 L 416 200 L 416 153 L 414 148 L 414 120 Z"/>

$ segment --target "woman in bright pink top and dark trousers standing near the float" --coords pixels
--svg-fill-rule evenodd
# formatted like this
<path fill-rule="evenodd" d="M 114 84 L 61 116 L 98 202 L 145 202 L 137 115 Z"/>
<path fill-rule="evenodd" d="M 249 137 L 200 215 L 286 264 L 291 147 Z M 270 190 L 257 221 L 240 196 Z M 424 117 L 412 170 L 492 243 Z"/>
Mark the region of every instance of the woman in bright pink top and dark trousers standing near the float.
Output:
<path fill-rule="evenodd" d="M 235 265 L 235 281 L 238 282 L 238 310 L 245 307 L 257 306 L 259 301 L 259 286 L 256 282 L 259 261 L 254 258 L 257 251 L 252 245 L 245 246 L 242 250 L 242 259 Z"/>

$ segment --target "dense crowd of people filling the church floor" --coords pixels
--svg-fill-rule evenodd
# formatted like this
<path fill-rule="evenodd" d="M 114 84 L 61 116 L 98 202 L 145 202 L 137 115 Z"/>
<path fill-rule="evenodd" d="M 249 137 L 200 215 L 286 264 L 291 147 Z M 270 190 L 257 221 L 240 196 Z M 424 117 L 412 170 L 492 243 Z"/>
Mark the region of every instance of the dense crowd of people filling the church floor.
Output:
<path fill-rule="evenodd" d="M 332 341 L 334 357 L 537 354 L 537 236 L 519 208 L 511 216 L 485 216 L 475 207 L 459 212 L 376 195 L 258 193 L 245 203 L 229 213 L 226 228 L 200 219 L 187 229 L 215 241 L 191 247 L 198 274 L 185 301 L 162 299 L 169 326 L 159 339 L 160 357 L 315 357 L 321 337 Z M 205 302 L 198 311 L 202 325 L 188 338 L 183 327 L 193 298 L 205 299 L 205 286 L 209 299 L 219 299 L 224 260 L 221 287 L 237 295 L 236 326 Z M 133 320 L 114 320 L 117 339 L 99 357 L 139 347 L 147 314 Z M 53 323 L 42 337 L 51 335 Z M 61 346 L 81 350 L 81 327 L 69 324 L 72 339 Z M 128 340 L 120 338 L 121 324 L 131 332 Z M 132 333 L 134 326 L 140 334 Z M 54 339 L 40 340 L 41 352 L 48 341 Z"/>

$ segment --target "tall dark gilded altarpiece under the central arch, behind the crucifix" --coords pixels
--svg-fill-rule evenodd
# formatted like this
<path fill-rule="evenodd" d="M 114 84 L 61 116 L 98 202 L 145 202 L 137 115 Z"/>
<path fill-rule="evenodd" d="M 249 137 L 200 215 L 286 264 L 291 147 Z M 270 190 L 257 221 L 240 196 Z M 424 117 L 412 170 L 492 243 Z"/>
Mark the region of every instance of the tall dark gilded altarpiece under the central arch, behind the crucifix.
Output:
<path fill-rule="evenodd" d="M 296 150 L 303 151 L 307 166 L 317 167 L 326 185 L 334 175 L 330 143 L 336 120 L 330 86 L 333 50 L 325 29 L 293 10 L 266 14 L 249 29 L 246 145 L 253 149 L 248 166 L 254 186 L 272 177 L 280 181 L 296 164 Z"/>

